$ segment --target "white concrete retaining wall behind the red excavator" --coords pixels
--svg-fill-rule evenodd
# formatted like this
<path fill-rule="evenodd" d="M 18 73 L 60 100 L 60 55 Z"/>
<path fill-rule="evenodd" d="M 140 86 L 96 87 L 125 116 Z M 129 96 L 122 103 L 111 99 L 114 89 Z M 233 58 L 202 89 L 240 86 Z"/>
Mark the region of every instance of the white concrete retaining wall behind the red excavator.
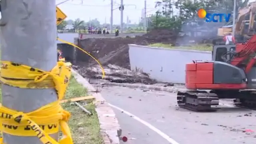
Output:
<path fill-rule="evenodd" d="M 131 70 L 146 72 L 159 82 L 185 83 L 186 64 L 211 60 L 212 52 L 129 44 L 129 58 Z"/>

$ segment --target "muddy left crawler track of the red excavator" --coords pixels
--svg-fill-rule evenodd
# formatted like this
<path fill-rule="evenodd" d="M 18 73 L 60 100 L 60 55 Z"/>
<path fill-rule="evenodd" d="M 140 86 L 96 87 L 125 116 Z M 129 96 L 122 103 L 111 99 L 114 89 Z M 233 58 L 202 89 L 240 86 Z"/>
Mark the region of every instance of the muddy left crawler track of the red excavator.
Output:
<path fill-rule="evenodd" d="M 177 103 L 181 108 L 196 112 L 214 112 L 212 106 L 219 105 L 217 94 L 205 91 L 188 91 L 177 93 Z"/>

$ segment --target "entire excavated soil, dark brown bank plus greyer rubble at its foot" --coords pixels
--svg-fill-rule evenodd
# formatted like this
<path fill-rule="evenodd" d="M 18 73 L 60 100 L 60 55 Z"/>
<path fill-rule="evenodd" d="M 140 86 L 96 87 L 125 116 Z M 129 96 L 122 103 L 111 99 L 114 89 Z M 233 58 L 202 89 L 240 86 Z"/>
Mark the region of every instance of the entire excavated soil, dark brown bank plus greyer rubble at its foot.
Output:
<path fill-rule="evenodd" d="M 131 38 L 87 38 L 78 41 L 78 46 L 100 61 L 106 72 L 104 80 L 118 83 L 155 84 L 145 73 L 130 70 L 128 44 L 148 45 L 154 43 L 176 44 L 178 34 L 171 30 L 152 30 L 142 36 Z M 77 53 L 77 66 L 73 66 L 83 77 L 101 79 L 100 66 L 83 52 Z"/>

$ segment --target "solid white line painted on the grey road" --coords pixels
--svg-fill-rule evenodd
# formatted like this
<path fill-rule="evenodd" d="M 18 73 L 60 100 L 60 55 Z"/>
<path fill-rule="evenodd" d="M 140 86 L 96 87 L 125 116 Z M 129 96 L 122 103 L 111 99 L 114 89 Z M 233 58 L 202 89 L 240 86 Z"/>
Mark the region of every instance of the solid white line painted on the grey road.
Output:
<path fill-rule="evenodd" d="M 123 110 L 122 108 L 119 108 L 117 106 L 114 106 L 110 103 L 108 103 L 109 106 L 111 106 L 112 108 L 115 108 L 117 110 L 120 110 L 121 112 L 127 114 L 128 116 L 131 116 L 132 118 L 134 118 L 135 120 L 137 120 L 138 122 L 144 124 L 145 126 L 147 126 L 148 128 L 150 128 L 151 130 L 153 130 L 154 132 L 156 132 L 157 134 L 159 134 L 160 136 L 162 136 L 164 139 L 166 139 L 168 142 L 170 142 L 171 144 L 179 144 L 178 142 L 176 142 L 174 139 L 170 138 L 170 136 L 168 136 L 167 134 L 165 134 L 164 132 L 162 132 L 161 130 L 157 129 L 156 127 L 152 126 L 151 124 L 149 124 L 148 122 L 140 119 L 138 116 L 135 116 L 133 114 L 131 114 L 130 112 L 127 112 L 125 110 Z"/>

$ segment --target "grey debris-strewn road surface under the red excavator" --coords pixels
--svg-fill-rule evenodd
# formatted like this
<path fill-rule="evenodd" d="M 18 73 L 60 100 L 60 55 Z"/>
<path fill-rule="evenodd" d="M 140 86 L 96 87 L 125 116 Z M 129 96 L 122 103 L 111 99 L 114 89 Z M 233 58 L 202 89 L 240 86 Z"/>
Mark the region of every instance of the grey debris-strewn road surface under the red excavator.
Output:
<path fill-rule="evenodd" d="M 175 93 L 117 86 L 100 91 L 128 137 L 126 144 L 253 144 L 256 140 L 256 112 L 234 108 L 230 101 L 221 101 L 225 105 L 218 112 L 200 113 L 178 108 Z"/>

